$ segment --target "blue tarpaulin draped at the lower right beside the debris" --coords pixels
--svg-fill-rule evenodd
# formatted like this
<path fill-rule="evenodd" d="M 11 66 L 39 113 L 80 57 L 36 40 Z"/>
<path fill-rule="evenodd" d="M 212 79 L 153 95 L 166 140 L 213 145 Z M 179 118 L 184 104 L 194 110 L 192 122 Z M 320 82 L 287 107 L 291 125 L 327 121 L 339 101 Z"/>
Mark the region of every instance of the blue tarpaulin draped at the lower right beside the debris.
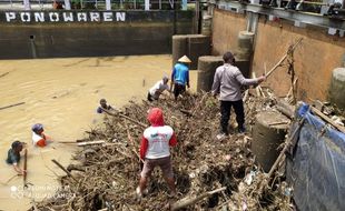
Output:
<path fill-rule="evenodd" d="M 300 211 L 345 210 L 345 134 L 332 129 L 303 104 L 305 118 L 296 144 L 286 159 L 287 181 Z M 296 121 L 293 130 L 297 128 Z"/>

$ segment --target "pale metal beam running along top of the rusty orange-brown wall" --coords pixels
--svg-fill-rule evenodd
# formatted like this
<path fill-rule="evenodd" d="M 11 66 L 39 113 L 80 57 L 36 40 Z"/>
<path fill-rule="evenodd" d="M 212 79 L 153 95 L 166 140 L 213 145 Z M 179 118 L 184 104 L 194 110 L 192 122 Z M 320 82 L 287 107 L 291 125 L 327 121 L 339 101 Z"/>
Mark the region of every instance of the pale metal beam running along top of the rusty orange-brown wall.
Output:
<path fill-rule="evenodd" d="M 300 11 L 290 11 L 282 8 L 268 8 L 260 4 L 247 4 L 238 1 L 226 1 L 226 0 L 209 0 L 210 3 L 216 4 L 216 8 L 227 10 L 236 13 L 254 12 L 266 16 L 275 16 L 282 19 L 298 21 L 306 24 L 317 26 L 322 28 L 334 28 L 345 30 L 345 20 L 329 18 L 322 14 L 314 14 Z"/>

